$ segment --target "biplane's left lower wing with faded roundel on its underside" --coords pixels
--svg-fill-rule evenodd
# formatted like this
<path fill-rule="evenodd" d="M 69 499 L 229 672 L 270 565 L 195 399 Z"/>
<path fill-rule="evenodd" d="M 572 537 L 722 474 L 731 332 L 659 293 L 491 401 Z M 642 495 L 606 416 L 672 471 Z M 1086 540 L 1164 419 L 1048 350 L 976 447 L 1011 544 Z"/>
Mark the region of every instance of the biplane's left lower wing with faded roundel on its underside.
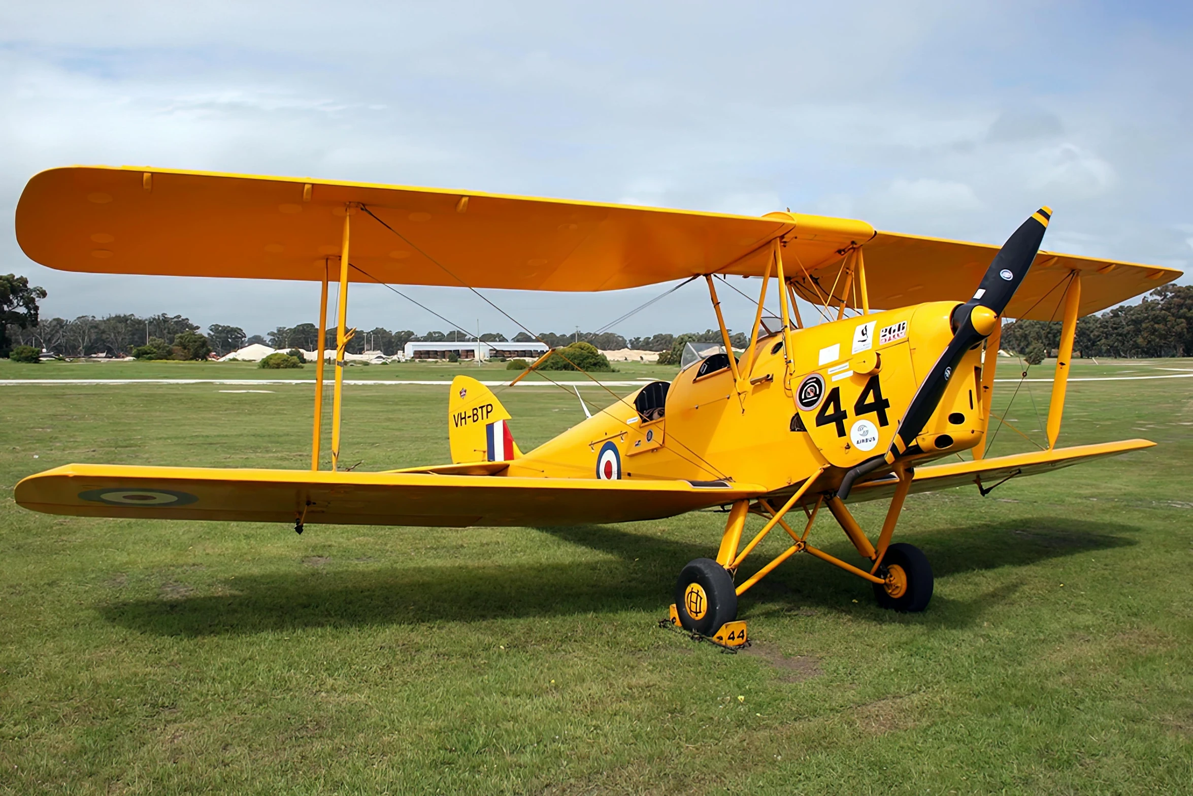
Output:
<path fill-rule="evenodd" d="M 762 492 L 687 481 L 67 464 L 24 479 L 14 496 L 25 508 L 79 517 L 463 527 L 659 519 Z"/>

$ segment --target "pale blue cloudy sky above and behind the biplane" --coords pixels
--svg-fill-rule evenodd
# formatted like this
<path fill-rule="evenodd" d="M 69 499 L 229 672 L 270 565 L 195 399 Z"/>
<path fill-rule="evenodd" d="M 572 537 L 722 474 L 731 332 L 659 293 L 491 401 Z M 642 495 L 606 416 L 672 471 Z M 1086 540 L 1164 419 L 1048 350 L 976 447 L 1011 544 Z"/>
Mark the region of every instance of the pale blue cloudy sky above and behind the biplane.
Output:
<path fill-rule="evenodd" d="M 143 165 L 761 215 L 1188 270 L 1193 11 L 1049 2 L 27 2 L 0 6 L 0 208 L 72 163 Z M 12 224 L 0 272 L 43 315 L 313 322 L 319 288 L 52 271 Z M 1189 284 L 1183 277 L 1181 283 Z M 487 291 L 534 331 L 600 328 L 668 285 Z M 407 292 L 518 332 L 463 289 Z M 446 329 L 376 285 L 350 323 Z M 722 297 L 729 326 L 752 308 Z M 699 283 L 611 331 L 716 325 Z"/>

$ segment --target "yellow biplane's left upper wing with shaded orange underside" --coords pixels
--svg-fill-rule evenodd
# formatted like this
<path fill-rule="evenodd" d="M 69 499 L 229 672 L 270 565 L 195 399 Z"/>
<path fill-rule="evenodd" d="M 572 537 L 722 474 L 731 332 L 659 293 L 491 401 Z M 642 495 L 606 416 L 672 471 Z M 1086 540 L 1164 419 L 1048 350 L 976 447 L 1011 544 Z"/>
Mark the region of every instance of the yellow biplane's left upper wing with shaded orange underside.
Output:
<path fill-rule="evenodd" d="M 350 278 L 395 284 L 616 290 L 718 271 L 752 254 L 765 260 L 769 241 L 797 223 L 801 251 L 816 263 L 874 232 L 818 216 L 74 166 L 29 181 L 17 240 L 31 259 L 66 271 L 321 280 L 327 258 L 340 254 L 348 202 L 377 216 L 352 217 L 358 270 Z"/>

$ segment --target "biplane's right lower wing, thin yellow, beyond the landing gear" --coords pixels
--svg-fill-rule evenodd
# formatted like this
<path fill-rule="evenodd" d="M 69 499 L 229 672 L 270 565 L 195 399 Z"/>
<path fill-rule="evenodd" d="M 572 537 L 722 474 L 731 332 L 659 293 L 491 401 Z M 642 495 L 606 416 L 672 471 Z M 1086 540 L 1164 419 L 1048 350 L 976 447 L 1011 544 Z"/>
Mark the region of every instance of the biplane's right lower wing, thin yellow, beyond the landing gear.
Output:
<path fill-rule="evenodd" d="M 1014 453 L 996 458 L 981 458 L 971 462 L 954 462 L 933 467 L 917 467 L 911 481 L 911 492 L 933 492 L 976 483 L 981 487 L 993 487 L 1005 479 L 1024 475 L 1038 475 L 1051 470 L 1078 464 L 1104 456 L 1118 456 L 1127 451 L 1152 448 L 1156 443 L 1148 439 L 1125 439 L 1118 443 L 1099 443 L 1096 445 L 1077 445 L 1075 448 L 1057 448 L 1050 451 Z M 854 500 L 879 500 L 895 494 L 897 479 L 889 476 L 878 481 L 858 485 L 849 493 L 849 502 Z"/>

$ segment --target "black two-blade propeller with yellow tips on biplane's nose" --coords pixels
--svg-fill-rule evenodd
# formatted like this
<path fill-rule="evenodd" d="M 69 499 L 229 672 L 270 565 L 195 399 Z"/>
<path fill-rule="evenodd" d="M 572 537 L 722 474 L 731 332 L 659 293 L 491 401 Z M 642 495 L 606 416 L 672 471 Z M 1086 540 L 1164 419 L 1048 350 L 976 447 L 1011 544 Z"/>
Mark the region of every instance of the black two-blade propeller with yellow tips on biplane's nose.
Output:
<path fill-rule="evenodd" d="M 985 270 L 982 283 L 977 292 L 964 304 L 953 310 L 953 339 L 948 343 L 944 353 L 937 359 L 937 364 L 928 371 L 927 378 L 920 384 L 910 406 L 903 413 L 895 439 L 891 440 L 890 450 L 883 456 L 874 456 L 845 474 L 836 494 L 845 500 L 853 488 L 853 482 L 863 475 L 872 473 L 884 464 L 894 464 L 895 459 L 902 456 L 915 438 L 923 431 L 932 413 L 937 411 L 940 397 L 945 394 L 948 380 L 962 360 L 965 352 L 975 344 L 990 337 L 1002 310 L 1010 303 L 1027 269 L 1039 252 L 1044 241 L 1044 232 L 1047 222 L 1052 217 L 1051 208 L 1040 208 L 1032 214 L 1031 218 L 1019 226 L 1007 242 L 1002 245 L 995 254 L 990 267 Z"/>

